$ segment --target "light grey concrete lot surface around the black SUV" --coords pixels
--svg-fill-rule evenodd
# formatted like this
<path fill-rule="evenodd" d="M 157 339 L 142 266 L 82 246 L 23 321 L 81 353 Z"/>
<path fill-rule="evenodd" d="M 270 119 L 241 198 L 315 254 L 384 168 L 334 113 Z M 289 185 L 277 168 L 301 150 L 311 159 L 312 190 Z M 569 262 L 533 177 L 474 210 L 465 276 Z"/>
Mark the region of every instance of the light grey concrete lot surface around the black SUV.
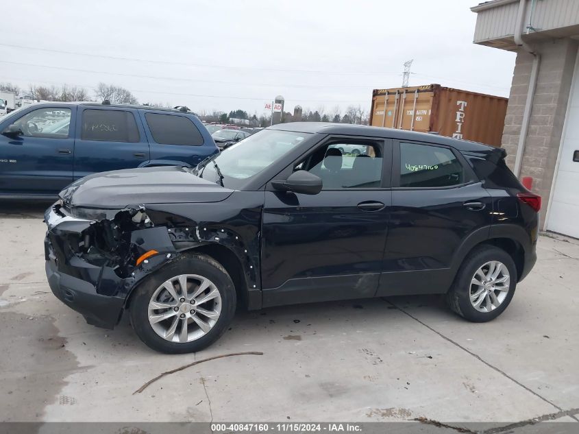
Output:
<path fill-rule="evenodd" d="M 167 356 L 127 320 L 88 326 L 53 296 L 47 206 L 0 206 L 2 421 L 577 422 L 579 241 L 541 237 L 537 266 L 488 324 L 432 296 L 305 304 L 239 312 L 208 350 Z M 208 361 L 133 395 L 160 372 L 243 351 L 264 354 Z"/>

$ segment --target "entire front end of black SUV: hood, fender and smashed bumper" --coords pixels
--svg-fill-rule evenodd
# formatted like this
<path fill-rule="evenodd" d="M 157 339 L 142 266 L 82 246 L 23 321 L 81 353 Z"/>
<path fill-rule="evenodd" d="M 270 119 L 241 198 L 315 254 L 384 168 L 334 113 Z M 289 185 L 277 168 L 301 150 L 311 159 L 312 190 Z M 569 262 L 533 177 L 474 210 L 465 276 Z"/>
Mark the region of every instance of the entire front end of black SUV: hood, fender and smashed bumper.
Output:
<path fill-rule="evenodd" d="M 225 199 L 233 193 L 180 167 L 101 173 L 71 184 L 45 213 L 51 290 L 88 324 L 113 328 L 147 276 L 212 248 L 232 258 L 240 287 L 256 290 L 259 213 L 231 210 Z"/>

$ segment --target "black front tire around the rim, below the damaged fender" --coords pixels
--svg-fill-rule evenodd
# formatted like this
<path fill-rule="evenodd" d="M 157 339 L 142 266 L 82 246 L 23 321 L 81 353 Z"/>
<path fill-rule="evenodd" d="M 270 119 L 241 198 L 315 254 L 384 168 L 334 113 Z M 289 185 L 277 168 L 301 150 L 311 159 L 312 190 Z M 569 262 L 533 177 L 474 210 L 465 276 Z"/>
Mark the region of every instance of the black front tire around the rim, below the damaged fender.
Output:
<path fill-rule="evenodd" d="M 197 274 L 214 283 L 221 296 L 221 314 L 206 335 L 190 342 L 171 342 L 153 330 L 149 323 L 149 301 L 153 293 L 166 280 L 181 274 Z M 197 352 L 217 341 L 229 326 L 236 307 L 234 284 L 223 266 L 205 254 L 186 254 L 173 263 L 159 269 L 135 289 L 130 304 L 131 324 L 140 338 L 149 348 L 167 354 Z M 193 324 L 193 323 L 192 323 Z"/>

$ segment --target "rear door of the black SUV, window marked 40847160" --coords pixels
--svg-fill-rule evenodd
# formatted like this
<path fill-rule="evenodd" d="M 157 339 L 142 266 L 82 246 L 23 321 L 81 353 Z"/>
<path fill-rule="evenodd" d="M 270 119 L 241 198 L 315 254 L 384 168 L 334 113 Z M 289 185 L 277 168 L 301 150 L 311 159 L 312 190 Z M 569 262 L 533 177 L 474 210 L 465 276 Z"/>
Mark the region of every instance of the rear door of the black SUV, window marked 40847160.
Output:
<path fill-rule="evenodd" d="M 444 292 L 454 254 L 488 235 L 493 204 L 456 149 L 395 141 L 389 235 L 379 296 Z M 486 231 L 486 232 L 485 232 Z"/>

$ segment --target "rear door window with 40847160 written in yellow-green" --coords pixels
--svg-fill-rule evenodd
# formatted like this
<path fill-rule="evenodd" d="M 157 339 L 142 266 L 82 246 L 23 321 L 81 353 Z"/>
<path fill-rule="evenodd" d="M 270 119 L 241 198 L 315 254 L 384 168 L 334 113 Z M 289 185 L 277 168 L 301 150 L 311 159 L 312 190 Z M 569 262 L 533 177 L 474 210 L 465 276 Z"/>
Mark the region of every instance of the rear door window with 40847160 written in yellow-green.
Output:
<path fill-rule="evenodd" d="M 465 183 L 465 170 L 445 147 L 400 143 L 401 187 L 445 187 Z"/>

